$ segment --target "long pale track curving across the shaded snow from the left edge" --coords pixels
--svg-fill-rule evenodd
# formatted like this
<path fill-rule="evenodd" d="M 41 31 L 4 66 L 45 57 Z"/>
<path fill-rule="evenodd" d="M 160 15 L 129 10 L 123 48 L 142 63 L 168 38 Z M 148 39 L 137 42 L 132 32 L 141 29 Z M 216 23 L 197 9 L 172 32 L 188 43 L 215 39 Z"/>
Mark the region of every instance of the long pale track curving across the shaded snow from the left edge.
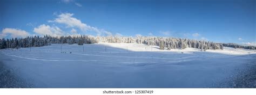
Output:
<path fill-rule="evenodd" d="M 45 60 L 45 59 L 35 59 L 35 58 L 29 58 L 29 57 L 22 57 L 22 56 L 16 56 L 16 55 L 9 55 L 9 54 L 5 54 L 8 56 L 13 56 L 13 57 L 19 57 L 22 59 L 28 59 L 28 60 L 40 60 L 40 61 L 85 61 L 85 62 L 89 62 L 89 61 L 97 61 L 97 60 Z"/>

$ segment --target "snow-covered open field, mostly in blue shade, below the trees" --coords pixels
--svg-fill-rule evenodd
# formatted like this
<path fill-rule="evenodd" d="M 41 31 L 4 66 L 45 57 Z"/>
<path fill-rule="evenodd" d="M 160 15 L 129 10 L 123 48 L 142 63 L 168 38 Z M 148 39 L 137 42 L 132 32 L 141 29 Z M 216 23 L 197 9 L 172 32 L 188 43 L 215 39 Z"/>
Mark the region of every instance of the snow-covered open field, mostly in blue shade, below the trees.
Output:
<path fill-rule="evenodd" d="M 52 44 L 1 49 L 0 61 L 24 81 L 22 87 L 234 87 L 235 76 L 256 64 L 256 51 Z"/>

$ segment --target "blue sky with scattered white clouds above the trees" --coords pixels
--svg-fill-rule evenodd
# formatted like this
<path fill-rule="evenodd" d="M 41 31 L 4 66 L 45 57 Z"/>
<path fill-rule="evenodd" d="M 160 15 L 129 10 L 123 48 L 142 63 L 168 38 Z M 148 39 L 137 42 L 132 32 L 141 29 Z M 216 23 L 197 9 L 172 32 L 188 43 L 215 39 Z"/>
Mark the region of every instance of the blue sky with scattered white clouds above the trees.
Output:
<path fill-rule="evenodd" d="M 256 43 L 253 0 L 3 0 L 0 9 L 1 38 L 140 34 Z"/>

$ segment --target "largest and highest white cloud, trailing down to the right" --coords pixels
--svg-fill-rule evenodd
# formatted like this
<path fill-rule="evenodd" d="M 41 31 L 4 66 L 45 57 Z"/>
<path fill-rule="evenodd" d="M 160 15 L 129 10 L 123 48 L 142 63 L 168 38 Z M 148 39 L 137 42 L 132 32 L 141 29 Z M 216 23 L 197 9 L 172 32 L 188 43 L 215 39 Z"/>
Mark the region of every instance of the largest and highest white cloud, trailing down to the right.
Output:
<path fill-rule="evenodd" d="M 59 14 L 54 20 L 49 20 L 49 23 L 59 23 L 59 24 L 64 24 L 66 25 L 66 27 L 72 27 L 72 28 L 79 28 L 81 31 L 83 32 L 87 32 L 87 31 L 93 31 L 96 32 L 97 35 L 111 35 L 111 32 L 105 31 L 103 29 L 99 29 L 97 27 L 92 27 L 89 26 L 85 23 L 82 23 L 81 20 L 72 17 L 73 13 L 62 13 Z"/>

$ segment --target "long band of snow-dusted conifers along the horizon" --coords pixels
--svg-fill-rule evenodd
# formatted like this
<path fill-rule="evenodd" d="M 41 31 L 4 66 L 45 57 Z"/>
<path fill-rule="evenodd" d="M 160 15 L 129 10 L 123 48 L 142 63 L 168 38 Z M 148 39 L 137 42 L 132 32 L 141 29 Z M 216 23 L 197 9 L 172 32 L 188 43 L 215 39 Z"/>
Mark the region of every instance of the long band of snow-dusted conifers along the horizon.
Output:
<path fill-rule="evenodd" d="M 242 46 L 235 43 L 215 43 L 204 40 L 181 39 L 171 37 L 157 37 L 157 36 L 92 36 L 92 35 L 78 35 L 78 36 L 28 36 L 26 38 L 11 38 L 0 39 L 0 49 L 4 48 L 21 48 L 21 47 L 40 47 L 51 45 L 51 43 L 69 43 L 83 45 L 84 43 L 139 43 L 149 46 L 160 46 L 160 49 L 185 49 L 187 47 L 198 48 L 201 50 L 207 49 L 223 49 L 223 47 L 256 49 L 254 46 Z"/>

